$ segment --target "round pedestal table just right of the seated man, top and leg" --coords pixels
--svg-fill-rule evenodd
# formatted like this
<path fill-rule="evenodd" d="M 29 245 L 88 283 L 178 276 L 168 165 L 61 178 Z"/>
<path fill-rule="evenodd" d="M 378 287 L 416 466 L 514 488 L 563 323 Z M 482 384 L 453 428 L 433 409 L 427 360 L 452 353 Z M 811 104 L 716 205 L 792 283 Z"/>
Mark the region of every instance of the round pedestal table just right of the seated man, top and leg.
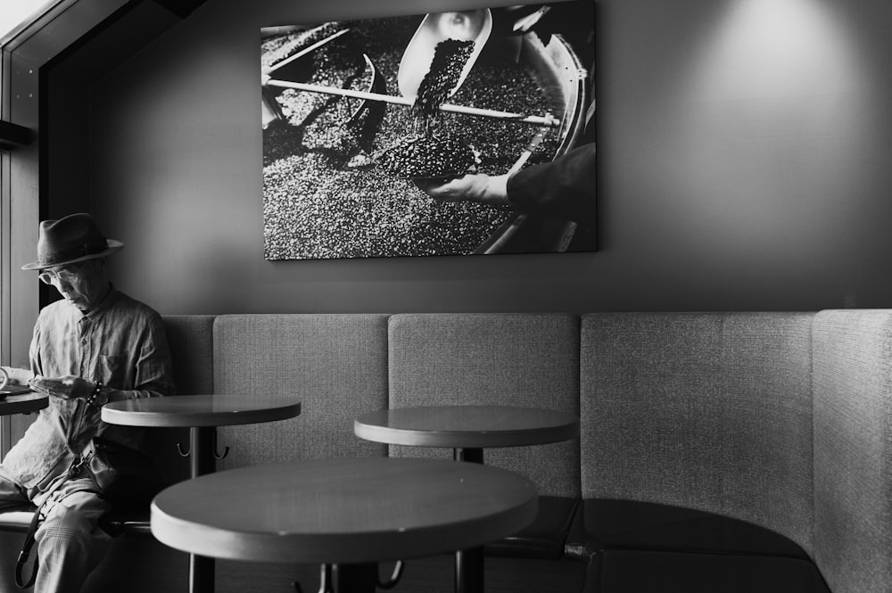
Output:
<path fill-rule="evenodd" d="M 285 420 L 301 414 L 301 402 L 268 395 L 177 395 L 113 401 L 103 406 L 103 421 L 126 426 L 188 427 L 191 475 L 212 474 L 217 469 L 217 427 Z M 211 593 L 214 561 L 192 555 L 189 590 Z"/>

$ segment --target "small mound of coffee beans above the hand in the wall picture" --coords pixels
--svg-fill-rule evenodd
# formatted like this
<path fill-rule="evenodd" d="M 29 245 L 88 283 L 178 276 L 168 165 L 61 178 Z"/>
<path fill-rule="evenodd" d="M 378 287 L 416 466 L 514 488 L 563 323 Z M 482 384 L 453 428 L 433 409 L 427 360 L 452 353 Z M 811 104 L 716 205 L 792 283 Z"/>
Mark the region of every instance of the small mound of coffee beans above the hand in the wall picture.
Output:
<path fill-rule="evenodd" d="M 457 137 L 406 136 L 378 159 L 393 177 L 450 177 L 474 166 L 474 152 Z"/>

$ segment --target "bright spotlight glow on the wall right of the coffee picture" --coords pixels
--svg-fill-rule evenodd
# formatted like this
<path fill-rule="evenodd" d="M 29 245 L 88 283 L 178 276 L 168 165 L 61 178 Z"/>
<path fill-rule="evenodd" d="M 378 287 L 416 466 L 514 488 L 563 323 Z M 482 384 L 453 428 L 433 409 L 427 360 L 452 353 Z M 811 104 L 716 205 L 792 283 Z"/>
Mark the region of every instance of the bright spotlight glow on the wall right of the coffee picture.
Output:
<path fill-rule="evenodd" d="M 681 77 L 674 136 L 684 150 L 674 181 L 704 217 L 710 240 L 737 235 L 738 245 L 764 241 L 783 250 L 785 230 L 803 209 L 811 210 L 815 233 L 845 211 L 840 198 L 858 184 L 871 145 L 865 136 L 875 134 L 874 95 L 858 40 L 832 3 L 737 0 L 728 7 Z"/>

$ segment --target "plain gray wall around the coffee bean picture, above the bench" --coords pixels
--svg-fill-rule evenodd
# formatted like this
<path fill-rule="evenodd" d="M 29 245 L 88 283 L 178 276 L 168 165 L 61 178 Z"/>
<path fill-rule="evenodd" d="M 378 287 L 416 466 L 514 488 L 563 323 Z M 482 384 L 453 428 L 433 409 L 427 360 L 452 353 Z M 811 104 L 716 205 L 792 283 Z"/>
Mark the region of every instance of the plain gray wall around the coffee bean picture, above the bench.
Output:
<path fill-rule="evenodd" d="M 601 0 L 598 252 L 265 261 L 260 27 L 439 10 L 210 0 L 94 85 L 120 287 L 166 314 L 892 306 L 887 0 Z"/>

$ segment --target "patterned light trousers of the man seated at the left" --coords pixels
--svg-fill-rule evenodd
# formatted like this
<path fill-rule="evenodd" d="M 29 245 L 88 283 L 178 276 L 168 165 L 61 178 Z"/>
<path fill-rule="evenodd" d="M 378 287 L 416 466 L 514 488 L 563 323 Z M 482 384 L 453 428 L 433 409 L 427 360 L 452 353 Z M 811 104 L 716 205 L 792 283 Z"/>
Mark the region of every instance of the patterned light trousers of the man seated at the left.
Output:
<path fill-rule="evenodd" d="M 39 559 L 34 593 L 79 593 L 105 556 L 111 536 L 98 523 L 111 507 L 95 489 L 89 477 L 68 480 L 47 498 L 38 489 L 21 488 L 0 465 L 0 511 L 39 505 L 47 498 L 32 550 Z M 12 575 L 4 578 L 12 582 Z"/>

